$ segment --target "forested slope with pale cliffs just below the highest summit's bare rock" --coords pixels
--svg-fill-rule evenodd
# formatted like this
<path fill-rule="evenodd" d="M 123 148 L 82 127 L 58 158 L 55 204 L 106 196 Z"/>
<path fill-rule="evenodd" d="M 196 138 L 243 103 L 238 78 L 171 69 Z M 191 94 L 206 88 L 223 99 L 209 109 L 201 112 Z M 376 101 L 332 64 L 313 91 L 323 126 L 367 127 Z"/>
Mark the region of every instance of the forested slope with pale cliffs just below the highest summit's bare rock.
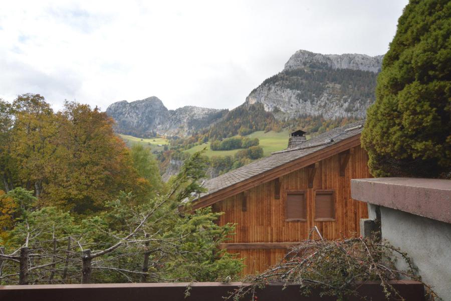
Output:
<path fill-rule="evenodd" d="M 377 73 L 310 63 L 284 70 L 255 88 L 246 104 L 263 104 L 278 120 L 302 115 L 363 118 L 374 102 Z"/>

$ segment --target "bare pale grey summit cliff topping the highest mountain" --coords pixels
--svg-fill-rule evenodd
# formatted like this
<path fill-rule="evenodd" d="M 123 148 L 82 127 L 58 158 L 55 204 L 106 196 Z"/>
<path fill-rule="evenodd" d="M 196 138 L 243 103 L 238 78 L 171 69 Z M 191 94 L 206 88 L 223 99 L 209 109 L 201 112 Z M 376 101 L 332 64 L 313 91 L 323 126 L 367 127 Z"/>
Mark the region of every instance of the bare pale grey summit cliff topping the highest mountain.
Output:
<path fill-rule="evenodd" d="M 285 64 L 285 70 L 308 67 L 311 64 L 324 65 L 333 69 L 352 69 L 378 73 L 383 55 L 370 57 L 365 54 L 320 54 L 298 50 Z"/>

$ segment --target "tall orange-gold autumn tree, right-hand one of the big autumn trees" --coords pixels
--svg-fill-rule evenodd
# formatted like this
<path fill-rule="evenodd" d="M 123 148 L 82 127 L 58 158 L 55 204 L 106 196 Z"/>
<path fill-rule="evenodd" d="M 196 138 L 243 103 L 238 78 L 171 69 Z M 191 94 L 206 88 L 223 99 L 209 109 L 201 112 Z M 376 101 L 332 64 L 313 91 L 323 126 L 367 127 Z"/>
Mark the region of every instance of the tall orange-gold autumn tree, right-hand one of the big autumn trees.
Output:
<path fill-rule="evenodd" d="M 45 202 L 82 213 L 100 210 L 120 191 L 139 186 L 129 149 L 113 120 L 89 105 L 66 102 L 56 150 L 48 161 Z"/>

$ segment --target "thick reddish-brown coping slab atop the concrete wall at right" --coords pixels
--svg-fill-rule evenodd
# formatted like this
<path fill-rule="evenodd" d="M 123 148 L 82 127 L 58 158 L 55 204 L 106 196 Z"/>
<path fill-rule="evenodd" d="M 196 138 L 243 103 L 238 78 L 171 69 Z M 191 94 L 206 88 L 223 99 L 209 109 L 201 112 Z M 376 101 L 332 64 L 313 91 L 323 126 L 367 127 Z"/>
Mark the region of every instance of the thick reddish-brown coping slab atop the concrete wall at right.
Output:
<path fill-rule="evenodd" d="M 353 179 L 351 197 L 370 204 L 451 223 L 451 180 Z"/>

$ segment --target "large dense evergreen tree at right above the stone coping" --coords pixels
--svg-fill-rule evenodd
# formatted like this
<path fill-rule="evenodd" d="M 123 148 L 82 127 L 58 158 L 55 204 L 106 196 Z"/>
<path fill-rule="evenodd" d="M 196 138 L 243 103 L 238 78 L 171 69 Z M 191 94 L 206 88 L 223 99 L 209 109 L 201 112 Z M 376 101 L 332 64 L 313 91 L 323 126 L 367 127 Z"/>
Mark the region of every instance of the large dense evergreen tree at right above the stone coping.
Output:
<path fill-rule="evenodd" d="M 362 143 L 373 176 L 449 177 L 451 2 L 410 1 L 384 57 Z"/>

